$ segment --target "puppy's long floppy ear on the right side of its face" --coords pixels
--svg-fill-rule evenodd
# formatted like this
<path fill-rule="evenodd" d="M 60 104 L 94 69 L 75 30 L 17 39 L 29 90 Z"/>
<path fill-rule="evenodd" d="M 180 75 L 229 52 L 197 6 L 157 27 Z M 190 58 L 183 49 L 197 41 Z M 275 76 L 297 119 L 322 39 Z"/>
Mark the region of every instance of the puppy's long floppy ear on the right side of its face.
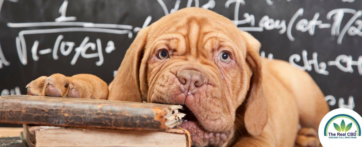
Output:
<path fill-rule="evenodd" d="M 245 105 L 244 123 L 249 134 L 260 135 L 268 121 L 268 110 L 261 87 L 262 73 L 259 55 L 260 42 L 251 34 L 241 31 L 246 42 L 246 62 L 252 71 Z"/>

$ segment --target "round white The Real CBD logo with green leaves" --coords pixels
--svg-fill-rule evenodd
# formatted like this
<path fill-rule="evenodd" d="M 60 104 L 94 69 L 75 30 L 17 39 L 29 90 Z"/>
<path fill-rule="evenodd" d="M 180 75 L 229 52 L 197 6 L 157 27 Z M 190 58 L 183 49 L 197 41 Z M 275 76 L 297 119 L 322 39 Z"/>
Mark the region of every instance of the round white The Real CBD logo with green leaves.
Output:
<path fill-rule="evenodd" d="M 351 109 L 328 112 L 319 124 L 318 136 L 323 147 L 362 147 L 362 117 Z"/>

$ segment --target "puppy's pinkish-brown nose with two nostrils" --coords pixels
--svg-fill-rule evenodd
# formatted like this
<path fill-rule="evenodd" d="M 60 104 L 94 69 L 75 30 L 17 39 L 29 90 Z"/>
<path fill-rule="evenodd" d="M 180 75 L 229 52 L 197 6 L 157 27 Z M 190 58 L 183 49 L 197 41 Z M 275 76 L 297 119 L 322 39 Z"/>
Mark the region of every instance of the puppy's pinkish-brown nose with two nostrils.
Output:
<path fill-rule="evenodd" d="M 184 85 L 195 85 L 200 87 L 205 83 L 204 75 L 201 72 L 195 70 L 182 70 L 178 74 L 178 80 Z"/>

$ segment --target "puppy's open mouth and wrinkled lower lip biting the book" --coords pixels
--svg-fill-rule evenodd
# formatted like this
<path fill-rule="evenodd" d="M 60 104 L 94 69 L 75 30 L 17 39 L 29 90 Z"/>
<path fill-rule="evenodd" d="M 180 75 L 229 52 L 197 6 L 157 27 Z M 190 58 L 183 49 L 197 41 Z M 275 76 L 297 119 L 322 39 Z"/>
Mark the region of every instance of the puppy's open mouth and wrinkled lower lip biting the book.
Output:
<path fill-rule="evenodd" d="M 205 130 L 193 112 L 185 105 L 183 105 L 183 108 L 181 113 L 185 113 L 186 116 L 182 118 L 180 127 L 189 131 L 192 146 L 221 146 L 226 142 L 230 133 L 210 132 Z"/>

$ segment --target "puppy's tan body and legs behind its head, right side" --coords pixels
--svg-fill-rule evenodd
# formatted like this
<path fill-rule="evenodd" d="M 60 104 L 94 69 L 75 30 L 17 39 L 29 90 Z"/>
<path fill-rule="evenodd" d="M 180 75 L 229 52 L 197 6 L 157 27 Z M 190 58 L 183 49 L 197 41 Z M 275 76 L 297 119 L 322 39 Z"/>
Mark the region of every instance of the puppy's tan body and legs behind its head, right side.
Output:
<path fill-rule="evenodd" d="M 281 60 L 263 58 L 262 72 L 268 122 L 261 136 L 247 135 L 247 138 L 252 139 L 241 139 L 235 146 L 292 147 L 294 139 L 300 146 L 308 143 L 313 146 L 313 142 L 318 144 L 317 138 L 308 138 L 316 136 L 315 132 L 306 128 L 317 130 L 329 108 L 313 79 L 307 72 Z M 242 119 L 240 116 L 237 118 Z M 304 127 L 304 132 L 297 138 L 299 124 Z M 243 128 L 238 121 L 235 121 L 235 125 Z"/>

